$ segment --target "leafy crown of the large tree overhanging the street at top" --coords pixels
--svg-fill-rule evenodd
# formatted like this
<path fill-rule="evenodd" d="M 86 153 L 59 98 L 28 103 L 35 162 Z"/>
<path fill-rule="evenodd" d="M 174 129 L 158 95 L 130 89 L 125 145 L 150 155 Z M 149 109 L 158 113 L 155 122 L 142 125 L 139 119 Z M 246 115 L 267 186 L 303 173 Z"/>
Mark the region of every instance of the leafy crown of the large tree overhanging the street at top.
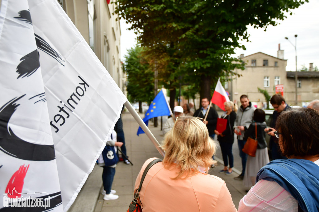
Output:
<path fill-rule="evenodd" d="M 197 69 L 192 80 L 200 81 L 202 98 L 210 96 L 211 83 L 219 76 L 243 69 L 231 55 L 236 48 L 245 49 L 241 41 L 249 40 L 247 25 L 266 30 L 304 2 L 308 0 L 118 0 L 116 12 L 132 24 L 142 46 L 171 50 L 164 52 L 174 73 L 181 64 L 183 71 Z"/>

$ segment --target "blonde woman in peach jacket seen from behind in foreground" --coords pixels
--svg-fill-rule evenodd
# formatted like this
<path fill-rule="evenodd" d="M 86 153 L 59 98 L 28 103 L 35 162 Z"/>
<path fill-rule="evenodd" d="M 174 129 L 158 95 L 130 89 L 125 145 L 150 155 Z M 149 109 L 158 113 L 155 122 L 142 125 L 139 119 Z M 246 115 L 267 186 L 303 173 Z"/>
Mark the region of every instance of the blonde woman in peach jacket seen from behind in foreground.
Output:
<path fill-rule="evenodd" d="M 216 164 L 211 158 L 216 147 L 203 120 L 179 117 L 162 147 L 166 152 L 163 162 L 150 168 L 139 193 L 143 212 L 237 211 L 225 182 L 207 174 Z M 154 159 L 142 166 L 134 191 L 145 167 Z"/>

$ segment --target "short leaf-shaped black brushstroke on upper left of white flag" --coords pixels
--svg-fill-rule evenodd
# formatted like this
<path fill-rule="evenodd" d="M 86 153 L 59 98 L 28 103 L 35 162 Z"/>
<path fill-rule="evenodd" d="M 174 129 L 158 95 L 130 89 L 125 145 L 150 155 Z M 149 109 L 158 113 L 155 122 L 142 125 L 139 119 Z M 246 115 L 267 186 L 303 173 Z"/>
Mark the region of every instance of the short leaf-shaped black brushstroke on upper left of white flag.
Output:
<path fill-rule="evenodd" d="M 19 63 L 16 71 L 19 74 L 17 79 L 21 76 L 22 78 L 31 76 L 40 67 L 38 50 L 36 49 L 33 52 L 28 53 L 26 56 L 23 56 L 20 61 L 21 62 Z"/>

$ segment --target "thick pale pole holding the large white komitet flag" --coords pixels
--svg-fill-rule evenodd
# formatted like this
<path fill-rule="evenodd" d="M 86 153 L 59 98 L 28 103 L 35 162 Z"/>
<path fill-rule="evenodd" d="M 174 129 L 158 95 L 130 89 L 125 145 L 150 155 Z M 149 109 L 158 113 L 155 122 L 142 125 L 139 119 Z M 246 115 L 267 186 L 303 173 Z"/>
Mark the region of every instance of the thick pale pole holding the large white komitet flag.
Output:
<path fill-rule="evenodd" d="M 147 137 L 152 141 L 157 151 L 159 151 L 159 153 L 164 157 L 165 156 L 164 150 L 160 147 L 159 142 L 156 140 L 156 138 L 154 137 L 150 129 L 148 129 L 146 124 L 143 122 L 142 118 L 137 114 L 137 112 L 135 111 L 131 103 L 127 100 L 124 103 L 124 105 L 127 108 L 127 110 L 129 110 L 129 112 L 132 114 L 132 116 L 137 121 L 137 123 L 141 126 L 142 130 L 145 132 Z"/>

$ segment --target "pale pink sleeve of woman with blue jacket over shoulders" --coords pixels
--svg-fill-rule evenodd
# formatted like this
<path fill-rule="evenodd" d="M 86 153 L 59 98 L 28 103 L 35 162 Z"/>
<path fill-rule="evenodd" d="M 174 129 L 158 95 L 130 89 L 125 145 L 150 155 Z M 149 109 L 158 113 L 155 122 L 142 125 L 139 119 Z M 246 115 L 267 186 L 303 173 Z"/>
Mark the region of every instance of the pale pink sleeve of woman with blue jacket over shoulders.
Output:
<path fill-rule="evenodd" d="M 241 199 L 238 211 L 298 211 L 298 201 L 278 183 L 259 180 Z"/>

